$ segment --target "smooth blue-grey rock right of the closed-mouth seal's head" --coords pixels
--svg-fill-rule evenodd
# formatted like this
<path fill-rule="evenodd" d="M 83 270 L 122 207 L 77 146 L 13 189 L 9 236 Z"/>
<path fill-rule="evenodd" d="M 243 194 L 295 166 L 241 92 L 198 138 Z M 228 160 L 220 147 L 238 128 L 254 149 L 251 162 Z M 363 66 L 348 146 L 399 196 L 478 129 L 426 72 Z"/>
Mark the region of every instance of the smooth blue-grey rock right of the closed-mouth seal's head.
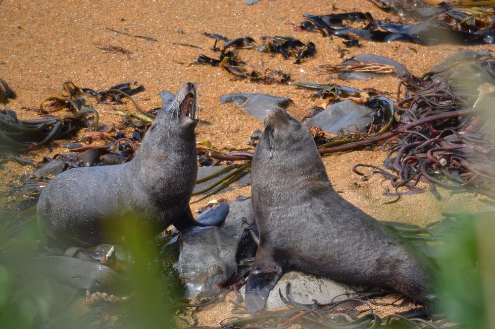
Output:
<path fill-rule="evenodd" d="M 305 125 L 319 126 L 331 134 L 337 134 L 340 129 L 356 131 L 354 124 L 359 130 L 363 130 L 373 120 L 373 113 L 369 107 L 347 100 L 327 107 Z"/>

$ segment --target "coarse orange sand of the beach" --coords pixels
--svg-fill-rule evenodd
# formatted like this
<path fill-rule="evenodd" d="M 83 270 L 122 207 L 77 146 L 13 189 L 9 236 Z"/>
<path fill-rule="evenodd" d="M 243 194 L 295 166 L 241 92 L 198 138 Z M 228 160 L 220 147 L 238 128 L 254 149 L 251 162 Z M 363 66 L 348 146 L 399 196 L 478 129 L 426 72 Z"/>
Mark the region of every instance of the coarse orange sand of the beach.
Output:
<path fill-rule="evenodd" d="M 335 8 L 332 8 L 333 5 Z M 317 54 L 302 62 L 285 60 L 280 55 L 269 55 L 253 49 L 241 49 L 239 57 L 255 69 L 269 68 L 291 75 L 292 82 L 337 83 L 355 88 L 376 88 L 396 95 L 398 79 L 387 76 L 377 80 L 341 81 L 317 75 L 319 64 L 339 64 L 338 47 L 344 47 L 340 38 L 323 38 L 317 32 L 297 32 L 294 24 L 302 20 L 302 14 L 329 14 L 340 12 L 370 12 L 374 17 L 396 19 L 393 14 L 379 10 L 365 0 L 289 1 L 261 0 L 255 5 L 244 1 L 0 1 L 0 78 L 8 82 L 17 98 L 2 108 L 15 110 L 22 119 L 39 118 L 33 111 L 42 100 L 62 94 L 63 82 L 72 81 L 80 87 L 105 89 L 112 85 L 137 81 L 146 90 L 134 99 L 145 110 L 160 107 L 160 90 L 175 93 L 184 82 L 198 84 L 201 119 L 212 125 L 199 125 L 197 141 L 210 141 L 218 150 L 249 150 L 249 136 L 262 122 L 247 115 L 234 104 L 221 105 L 222 95 L 234 92 L 259 92 L 291 98 L 294 103 L 288 112 L 297 119 L 308 113 L 315 99 L 312 92 L 298 89 L 293 84 L 261 84 L 246 80 L 232 80 L 225 70 L 209 65 L 193 65 L 198 55 L 217 56 L 210 50 L 213 39 L 203 32 L 218 33 L 227 38 L 250 36 L 261 42 L 261 36 L 293 36 L 316 45 Z M 142 35 L 157 41 L 116 34 L 115 29 L 132 35 Z M 186 43 L 194 45 L 178 45 Z M 459 49 L 454 45 L 421 46 L 407 42 L 379 43 L 360 40 L 362 47 L 349 48 L 350 55 L 368 53 L 390 57 L 404 65 L 412 75 L 422 76 L 433 65 Z M 105 52 L 98 46 L 119 46 L 131 54 Z M 472 50 L 495 50 L 493 45 L 469 47 Z M 93 101 L 100 113 L 100 123 L 118 124 L 122 118 L 103 113 L 108 110 L 136 112 L 134 106 L 124 101 L 122 105 L 104 105 Z M 79 132 L 82 135 L 84 129 Z M 72 138 L 73 140 L 77 137 Z M 23 156 L 41 161 L 45 156 L 67 153 L 66 140 L 52 143 L 53 149 L 41 147 Z M 95 141 L 95 143 L 102 143 Z M 380 220 L 393 220 L 425 225 L 442 219 L 443 212 L 476 212 L 486 207 L 474 194 L 455 194 L 439 188 L 443 200 L 438 201 L 428 192 L 406 196 L 392 205 L 384 197 L 380 186 L 381 176 L 370 175 L 361 181 L 352 172 L 357 163 L 383 165 L 385 153 L 379 148 L 323 157 L 330 180 L 335 189 L 355 206 Z M 14 162 L 4 165 L 0 171 L 0 191 L 9 190 L 9 184 L 19 183 L 22 174 L 33 172 L 31 166 Z M 223 197 L 235 200 L 239 195 L 249 195 L 244 187 L 209 199 Z M 19 195 L 2 198 L 1 206 L 11 205 Z M 194 199 L 193 199 L 194 200 Z M 193 208 L 197 205 L 193 205 Z M 204 312 L 204 313 L 202 313 Z M 211 307 L 198 314 L 200 325 L 218 325 L 230 316 L 225 305 Z"/>

